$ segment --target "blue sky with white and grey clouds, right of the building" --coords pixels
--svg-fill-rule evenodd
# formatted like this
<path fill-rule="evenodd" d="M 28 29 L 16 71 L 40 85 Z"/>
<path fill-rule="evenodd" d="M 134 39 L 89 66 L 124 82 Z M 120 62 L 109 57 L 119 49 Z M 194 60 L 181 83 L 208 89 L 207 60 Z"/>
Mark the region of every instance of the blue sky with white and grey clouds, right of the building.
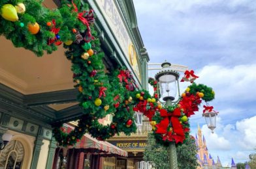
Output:
<path fill-rule="evenodd" d="M 219 111 L 215 133 L 200 110 L 191 134 L 199 123 L 211 155 L 225 166 L 231 157 L 248 161 L 256 148 L 256 1 L 133 1 L 150 62 L 188 66 L 200 76 L 197 83 L 216 92 L 210 103 Z"/>

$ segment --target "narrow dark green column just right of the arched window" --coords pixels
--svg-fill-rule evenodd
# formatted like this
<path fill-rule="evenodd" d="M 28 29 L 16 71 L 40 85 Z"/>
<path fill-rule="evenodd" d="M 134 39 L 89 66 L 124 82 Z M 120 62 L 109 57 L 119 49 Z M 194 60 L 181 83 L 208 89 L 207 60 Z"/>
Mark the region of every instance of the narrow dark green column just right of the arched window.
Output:
<path fill-rule="evenodd" d="M 38 133 L 37 138 L 35 140 L 33 158 L 32 158 L 31 167 L 30 167 L 31 169 L 37 168 L 37 163 L 39 161 L 41 146 L 42 146 L 42 144 L 44 144 L 42 142 L 42 140 L 44 140 L 44 138 L 42 137 L 43 133 L 44 132 L 43 132 L 42 127 L 39 127 L 39 133 Z"/>

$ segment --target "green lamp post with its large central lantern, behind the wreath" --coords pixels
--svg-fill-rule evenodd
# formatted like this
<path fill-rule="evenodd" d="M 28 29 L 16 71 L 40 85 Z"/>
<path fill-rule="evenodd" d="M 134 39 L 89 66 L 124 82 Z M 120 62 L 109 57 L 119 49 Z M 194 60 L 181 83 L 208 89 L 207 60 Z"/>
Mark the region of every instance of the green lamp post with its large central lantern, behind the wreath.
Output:
<path fill-rule="evenodd" d="M 169 62 L 164 62 L 161 66 L 161 70 L 155 75 L 155 79 L 158 81 L 160 87 L 160 101 L 165 102 L 167 106 L 171 106 L 175 104 L 174 99 L 176 98 L 177 90 L 180 96 L 180 87 L 178 82 L 180 74 L 171 69 L 171 64 Z M 171 142 L 169 144 L 168 158 L 170 169 L 177 169 L 178 161 L 175 142 Z"/>

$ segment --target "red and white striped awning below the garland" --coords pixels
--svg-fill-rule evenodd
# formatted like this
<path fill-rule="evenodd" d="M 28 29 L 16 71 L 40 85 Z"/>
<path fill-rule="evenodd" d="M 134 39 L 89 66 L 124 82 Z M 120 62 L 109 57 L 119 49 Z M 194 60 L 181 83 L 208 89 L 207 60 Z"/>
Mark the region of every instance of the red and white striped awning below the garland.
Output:
<path fill-rule="evenodd" d="M 70 133 L 72 129 L 74 129 L 74 127 L 67 125 L 67 133 Z M 68 148 L 84 149 L 88 153 L 96 153 L 102 156 L 128 156 L 127 151 L 124 151 L 109 142 L 99 141 L 87 133 L 82 136 L 80 142 L 77 142 L 74 146 L 69 146 Z"/>

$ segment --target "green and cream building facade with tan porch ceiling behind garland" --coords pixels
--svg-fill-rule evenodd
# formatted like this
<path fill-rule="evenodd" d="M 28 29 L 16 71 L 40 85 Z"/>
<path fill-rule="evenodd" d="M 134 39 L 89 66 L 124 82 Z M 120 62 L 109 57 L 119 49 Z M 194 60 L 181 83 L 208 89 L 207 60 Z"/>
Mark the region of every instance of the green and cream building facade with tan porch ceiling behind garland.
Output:
<path fill-rule="evenodd" d="M 57 8 L 59 3 L 46 0 L 43 5 Z M 138 31 L 133 1 L 88 0 L 84 3 L 88 3 L 97 16 L 95 27 L 106 70 L 125 66 L 133 73 L 138 87 L 146 89 L 149 57 Z M 12 135 L 12 140 L 1 150 L 0 168 L 59 168 L 58 155 L 65 152 L 57 147 L 52 126 L 82 116 L 65 49 L 59 46 L 51 55 L 38 58 L 31 51 L 14 47 L 3 36 L 0 44 L 0 138 L 4 133 Z M 108 145 L 108 149 L 111 147 Z M 135 167 L 134 162 L 116 153 L 112 153 L 114 157 L 102 155 L 90 159 L 84 151 L 78 155 L 76 150 L 72 149 L 74 153 L 69 150 L 67 155 L 76 157 L 78 168 L 89 167 L 88 161 L 97 158 L 97 168 Z M 71 162 L 67 159 L 67 164 Z"/>

